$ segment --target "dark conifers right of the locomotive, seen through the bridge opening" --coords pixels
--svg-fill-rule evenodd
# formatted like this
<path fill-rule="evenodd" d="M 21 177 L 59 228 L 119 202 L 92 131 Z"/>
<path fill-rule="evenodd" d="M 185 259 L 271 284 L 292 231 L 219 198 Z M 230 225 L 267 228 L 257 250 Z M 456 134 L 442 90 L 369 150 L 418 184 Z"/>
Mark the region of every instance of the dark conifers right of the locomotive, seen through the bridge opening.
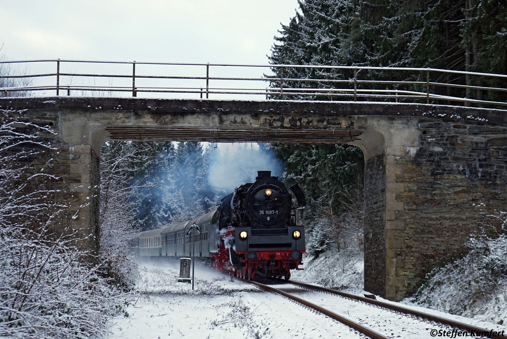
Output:
<path fill-rule="evenodd" d="M 362 244 L 363 153 L 353 146 L 271 144 L 285 162 L 284 182 L 306 194 L 308 255 Z"/>

